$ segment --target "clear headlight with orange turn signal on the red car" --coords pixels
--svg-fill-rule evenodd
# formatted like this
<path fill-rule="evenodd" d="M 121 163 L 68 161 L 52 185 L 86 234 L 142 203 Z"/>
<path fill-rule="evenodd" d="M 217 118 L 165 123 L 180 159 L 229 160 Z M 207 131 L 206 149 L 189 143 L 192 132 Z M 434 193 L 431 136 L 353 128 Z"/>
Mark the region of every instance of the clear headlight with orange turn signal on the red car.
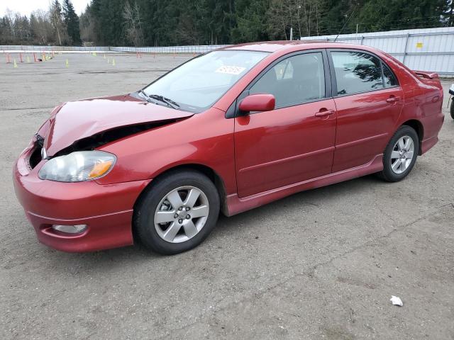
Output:
<path fill-rule="evenodd" d="M 114 166 L 116 157 L 103 151 L 77 151 L 50 159 L 40 169 L 40 179 L 57 182 L 82 182 L 99 179 Z"/>

